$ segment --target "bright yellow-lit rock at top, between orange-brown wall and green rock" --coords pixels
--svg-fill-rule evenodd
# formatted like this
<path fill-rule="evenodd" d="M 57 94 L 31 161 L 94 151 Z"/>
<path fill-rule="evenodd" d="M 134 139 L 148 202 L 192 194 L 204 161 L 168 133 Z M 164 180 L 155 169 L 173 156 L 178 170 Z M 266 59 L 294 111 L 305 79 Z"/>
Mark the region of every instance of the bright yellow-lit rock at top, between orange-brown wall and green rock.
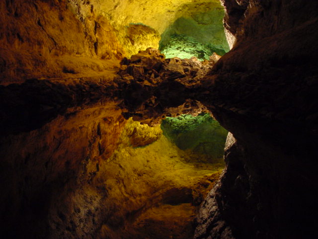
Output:
<path fill-rule="evenodd" d="M 87 4 L 80 4 L 79 0 L 69 2 L 74 13 L 83 22 L 94 16 L 105 17 L 116 29 L 115 34 L 124 47 L 126 56 L 148 47 L 158 48 L 159 35 L 177 18 L 205 12 L 209 7 L 222 7 L 220 0 L 91 0 Z M 136 28 L 135 25 L 132 36 L 131 24 L 140 23 L 144 27 Z M 136 41 L 132 38 L 138 39 Z"/>

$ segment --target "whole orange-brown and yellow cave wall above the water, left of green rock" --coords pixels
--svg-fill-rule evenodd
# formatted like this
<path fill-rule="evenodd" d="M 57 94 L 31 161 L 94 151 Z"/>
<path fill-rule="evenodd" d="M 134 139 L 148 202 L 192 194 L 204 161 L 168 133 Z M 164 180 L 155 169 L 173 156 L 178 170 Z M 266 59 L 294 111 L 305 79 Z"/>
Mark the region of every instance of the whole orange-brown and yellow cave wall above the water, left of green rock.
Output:
<path fill-rule="evenodd" d="M 123 56 L 158 48 L 169 24 L 205 2 L 3 0 L 0 84 L 107 74 Z"/>

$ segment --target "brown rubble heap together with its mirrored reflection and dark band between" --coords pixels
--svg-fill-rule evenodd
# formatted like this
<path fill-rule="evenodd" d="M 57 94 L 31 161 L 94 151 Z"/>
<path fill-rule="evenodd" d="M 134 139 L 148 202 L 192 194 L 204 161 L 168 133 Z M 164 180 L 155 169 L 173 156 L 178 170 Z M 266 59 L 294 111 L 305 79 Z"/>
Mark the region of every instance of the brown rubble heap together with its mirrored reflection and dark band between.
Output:
<path fill-rule="evenodd" d="M 125 92 L 125 116 L 153 125 L 165 116 L 206 112 L 190 94 L 213 65 L 196 57 L 165 59 L 154 48 L 124 58 L 116 83 Z"/>

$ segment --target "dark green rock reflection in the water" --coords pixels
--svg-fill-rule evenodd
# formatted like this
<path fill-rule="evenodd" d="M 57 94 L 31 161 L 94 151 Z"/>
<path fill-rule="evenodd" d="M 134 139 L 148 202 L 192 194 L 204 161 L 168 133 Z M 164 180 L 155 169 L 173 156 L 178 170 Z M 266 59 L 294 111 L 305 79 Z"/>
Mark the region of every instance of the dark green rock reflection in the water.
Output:
<path fill-rule="evenodd" d="M 161 129 L 164 136 L 182 150 L 203 154 L 210 158 L 210 161 L 219 161 L 223 158 L 228 131 L 210 114 L 200 114 L 197 117 L 167 117 L 162 120 Z"/>

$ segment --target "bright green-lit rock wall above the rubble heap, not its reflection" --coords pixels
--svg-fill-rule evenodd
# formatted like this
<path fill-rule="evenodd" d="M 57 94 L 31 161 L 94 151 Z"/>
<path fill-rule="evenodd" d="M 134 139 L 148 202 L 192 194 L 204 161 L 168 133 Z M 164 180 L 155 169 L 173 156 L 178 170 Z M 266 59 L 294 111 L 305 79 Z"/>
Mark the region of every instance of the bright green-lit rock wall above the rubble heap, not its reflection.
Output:
<path fill-rule="evenodd" d="M 159 50 L 166 58 L 196 56 L 203 60 L 213 52 L 224 55 L 230 50 L 223 27 L 224 9 L 215 3 L 210 7 L 179 17 L 161 34 Z"/>

